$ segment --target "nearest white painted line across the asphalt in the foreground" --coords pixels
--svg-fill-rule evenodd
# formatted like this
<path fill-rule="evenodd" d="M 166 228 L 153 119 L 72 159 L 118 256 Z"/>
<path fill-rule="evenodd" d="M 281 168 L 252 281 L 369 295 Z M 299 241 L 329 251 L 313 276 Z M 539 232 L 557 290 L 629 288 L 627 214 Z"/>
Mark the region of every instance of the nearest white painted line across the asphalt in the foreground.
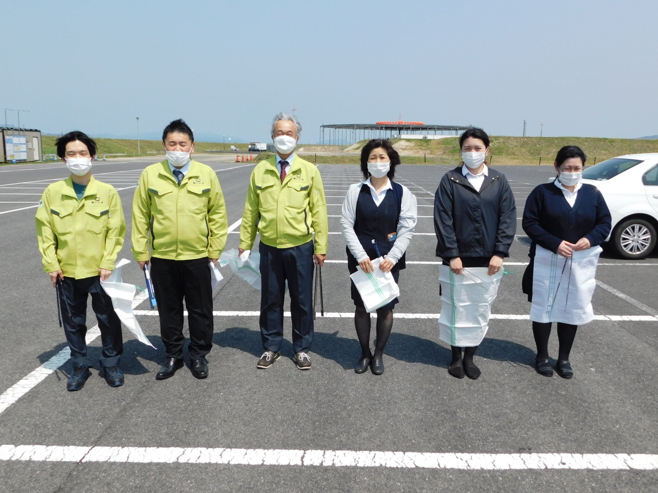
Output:
<path fill-rule="evenodd" d="M 280 450 L 263 448 L 103 447 L 0 445 L 0 460 L 51 462 L 187 463 L 393 467 L 509 471 L 658 469 L 658 454 L 455 454 L 370 450 Z"/>

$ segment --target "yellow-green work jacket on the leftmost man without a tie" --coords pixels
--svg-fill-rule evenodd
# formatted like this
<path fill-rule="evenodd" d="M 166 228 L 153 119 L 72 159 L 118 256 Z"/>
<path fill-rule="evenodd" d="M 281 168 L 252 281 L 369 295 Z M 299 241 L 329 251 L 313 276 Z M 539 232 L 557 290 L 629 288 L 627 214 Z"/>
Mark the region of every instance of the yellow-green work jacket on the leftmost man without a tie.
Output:
<path fill-rule="evenodd" d="M 48 185 L 36 224 L 43 270 L 76 279 L 98 275 L 99 268 L 113 270 L 126 234 L 118 193 L 93 176 L 82 200 L 70 177 Z"/>

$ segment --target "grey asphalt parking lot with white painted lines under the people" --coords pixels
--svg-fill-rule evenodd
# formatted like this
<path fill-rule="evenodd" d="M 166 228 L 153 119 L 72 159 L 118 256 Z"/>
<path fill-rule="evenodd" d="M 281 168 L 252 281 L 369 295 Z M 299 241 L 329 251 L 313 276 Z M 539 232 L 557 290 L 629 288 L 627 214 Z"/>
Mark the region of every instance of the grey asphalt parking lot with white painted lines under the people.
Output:
<path fill-rule="evenodd" d="M 92 168 L 122 199 L 128 233 L 118 258 L 132 260 L 134 187 L 141 170 L 158 160 L 111 160 Z M 253 164 L 228 163 L 224 156 L 197 160 L 218 174 L 235 227 L 227 248 L 238 248 L 236 222 Z M 263 352 L 253 315 L 259 292 L 224 268 L 214 294 L 208 379 L 182 369 L 155 381 L 164 349 L 157 316 L 143 302 L 136 306 L 139 321 L 157 350 L 124 331 L 124 387 L 108 387 L 96 368 L 83 390 L 66 392 L 71 365 L 53 367 L 66 342 L 53 287 L 41 269 L 34 213 L 45 186 L 68 173 L 57 163 L 0 167 L 0 490 L 658 490 L 658 459 L 633 455 L 658 454 L 658 252 L 640 261 L 603 253 L 593 300 L 597 319 L 578 329 L 570 358 L 574 378 L 538 375 L 530 304 L 520 287 L 528 261 L 520 217 L 528 193 L 554 174 L 547 166 L 494 166 L 515 192 L 518 237 L 476 353 L 482 377 L 457 380 L 447 373 L 449 346 L 439 340 L 440 259 L 432 223 L 434 191 L 449 168 L 400 166 L 397 181 L 418 197 L 418 225 L 400 275 L 386 371 L 356 375 L 361 352 L 339 216 L 359 168 L 318 168 L 331 234 L 322 269 L 327 316 L 316 320 L 311 371 L 298 371 L 290 360 L 289 317 L 284 358 L 256 369 Z M 123 273 L 125 282 L 145 287 L 136 262 Z M 88 313 L 92 327 L 90 306 Z M 92 360 L 99 343 L 90 343 Z M 555 331 L 549 350 L 557 356 Z M 28 375 L 32 380 L 25 380 Z M 27 382 L 18 389 L 22 394 L 20 382 Z M 528 465 L 538 457 L 543 467 Z M 644 461 L 648 470 L 611 467 L 629 460 Z"/>

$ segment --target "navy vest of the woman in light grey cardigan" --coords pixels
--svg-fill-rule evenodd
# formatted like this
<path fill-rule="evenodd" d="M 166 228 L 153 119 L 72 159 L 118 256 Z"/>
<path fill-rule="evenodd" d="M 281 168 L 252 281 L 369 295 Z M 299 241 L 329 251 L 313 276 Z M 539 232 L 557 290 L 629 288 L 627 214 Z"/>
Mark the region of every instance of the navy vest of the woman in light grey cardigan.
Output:
<path fill-rule="evenodd" d="M 364 183 L 359 192 L 354 232 L 370 260 L 377 258 L 377 252 L 372 245 L 373 239 L 379 252 L 385 256 L 393 248 L 397 237 L 397 223 L 402 208 L 402 185 L 394 181 L 391 181 L 391 185 L 393 190 L 386 193 L 379 206 L 375 205 L 368 185 Z M 351 256 L 349 248 L 347 254 Z M 395 270 L 405 268 L 405 258 L 406 253 L 395 264 Z"/>

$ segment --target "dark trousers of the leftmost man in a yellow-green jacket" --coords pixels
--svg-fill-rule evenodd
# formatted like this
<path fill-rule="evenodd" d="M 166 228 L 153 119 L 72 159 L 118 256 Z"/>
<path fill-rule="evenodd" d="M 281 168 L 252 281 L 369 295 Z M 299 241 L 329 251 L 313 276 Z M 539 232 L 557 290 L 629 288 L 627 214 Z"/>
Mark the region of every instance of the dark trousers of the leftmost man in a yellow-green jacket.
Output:
<path fill-rule="evenodd" d="M 62 324 L 66 342 L 71 350 L 74 365 L 93 366 L 87 357 L 87 298 L 91 294 L 91 308 L 96 314 L 98 327 L 101 329 L 103 357 L 101 367 L 118 366 L 123 352 L 123 335 L 121 321 L 114 313 L 112 298 L 101 287 L 101 278 L 97 275 L 85 279 L 64 277 L 61 281 Z"/>

